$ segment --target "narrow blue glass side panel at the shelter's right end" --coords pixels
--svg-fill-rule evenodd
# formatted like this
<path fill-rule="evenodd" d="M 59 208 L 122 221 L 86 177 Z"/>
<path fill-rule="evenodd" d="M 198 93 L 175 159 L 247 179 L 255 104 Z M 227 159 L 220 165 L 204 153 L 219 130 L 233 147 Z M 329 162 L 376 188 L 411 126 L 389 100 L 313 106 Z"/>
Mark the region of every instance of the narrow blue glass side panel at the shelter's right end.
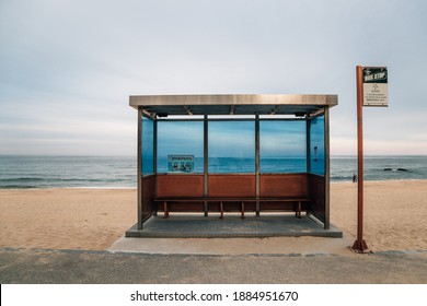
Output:
<path fill-rule="evenodd" d="M 310 121 L 310 164 L 312 174 L 325 175 L 325 117 Z"/>

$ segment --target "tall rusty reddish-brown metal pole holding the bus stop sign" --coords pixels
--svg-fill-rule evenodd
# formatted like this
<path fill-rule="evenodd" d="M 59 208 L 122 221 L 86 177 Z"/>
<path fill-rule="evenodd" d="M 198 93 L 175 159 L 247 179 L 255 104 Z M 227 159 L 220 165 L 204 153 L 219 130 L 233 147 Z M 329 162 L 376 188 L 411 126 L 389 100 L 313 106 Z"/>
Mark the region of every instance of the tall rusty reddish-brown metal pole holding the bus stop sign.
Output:
<path fill-rule="evenodd" d="M 363 240 L 363 85 L 362 68 L 356 67 L 357 79 L 357 240 L 353 249 L 363 252 L 368 245 Z"/>

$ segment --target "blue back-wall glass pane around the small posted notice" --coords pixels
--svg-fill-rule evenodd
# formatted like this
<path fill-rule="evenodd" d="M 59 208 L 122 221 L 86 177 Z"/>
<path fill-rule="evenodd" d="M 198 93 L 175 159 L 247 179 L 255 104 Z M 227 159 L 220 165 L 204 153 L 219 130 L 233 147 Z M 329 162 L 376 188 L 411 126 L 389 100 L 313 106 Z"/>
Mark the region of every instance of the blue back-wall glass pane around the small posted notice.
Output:
<path fill-rule="evenodd" d="M 204 173 L 204 122 L 158 121 L 158 173 L 168 173 L 169 155 L 194 156 L 188 172 Z"/>

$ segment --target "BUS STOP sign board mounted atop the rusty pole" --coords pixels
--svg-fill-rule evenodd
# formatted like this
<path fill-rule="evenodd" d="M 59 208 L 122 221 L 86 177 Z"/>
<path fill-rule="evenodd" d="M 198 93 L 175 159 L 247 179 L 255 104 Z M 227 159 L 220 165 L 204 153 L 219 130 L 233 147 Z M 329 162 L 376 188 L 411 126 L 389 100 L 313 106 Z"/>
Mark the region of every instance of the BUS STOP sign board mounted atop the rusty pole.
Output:
<path fill-rule="evenodd" d="M 363 106 L 388 106 L 386 67 L 363 67 Z"/>

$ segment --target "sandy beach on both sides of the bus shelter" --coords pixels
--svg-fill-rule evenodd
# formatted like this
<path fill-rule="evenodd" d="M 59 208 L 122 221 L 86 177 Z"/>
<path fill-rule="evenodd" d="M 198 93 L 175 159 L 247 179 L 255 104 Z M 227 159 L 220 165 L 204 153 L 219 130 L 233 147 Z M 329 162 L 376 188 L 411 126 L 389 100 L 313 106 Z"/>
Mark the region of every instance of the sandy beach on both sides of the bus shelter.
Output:
<path fill-rule="evenodd" d="M 0 247 L 105 250 L 136 216 L 135 189 L 0 190 Z M 363 237 L 370 250 L 427 250 L 426 220 L 427 180 L 366 183 Z M 331 223 L 345 243 L 355 240 L 356 184 L 331 185 Z M 315 237 L 279 239 L 298 251 L 304 245 L 315 252 L 320 244 Z"/>

